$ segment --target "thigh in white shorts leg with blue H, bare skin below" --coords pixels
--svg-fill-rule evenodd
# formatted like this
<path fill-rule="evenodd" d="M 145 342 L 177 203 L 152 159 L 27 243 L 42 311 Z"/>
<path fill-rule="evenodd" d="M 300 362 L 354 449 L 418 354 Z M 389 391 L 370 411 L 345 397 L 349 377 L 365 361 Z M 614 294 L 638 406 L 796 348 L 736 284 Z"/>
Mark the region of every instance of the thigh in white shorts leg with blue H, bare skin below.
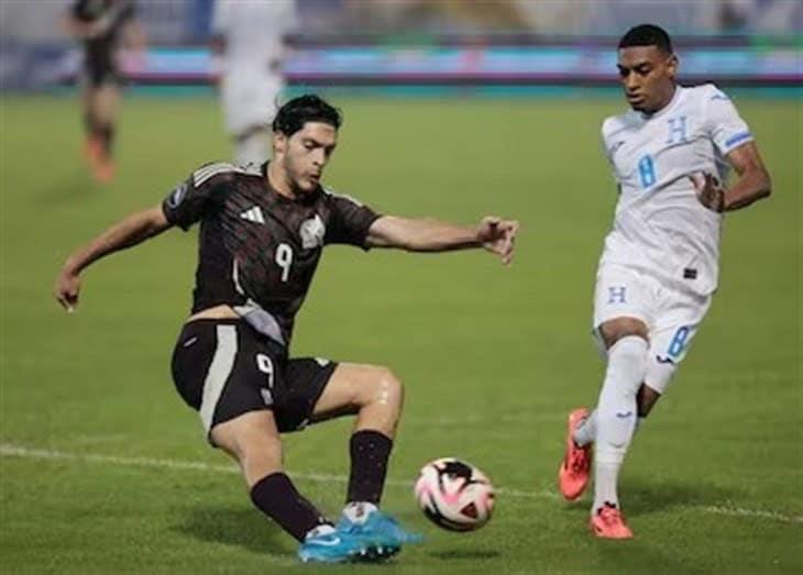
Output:
<path fill-rule="evenodd" d="M 601 349 L 626 335 L 648 339 L 654 316 L 652 288 L 640 273 L 603 265 L 594 289 L 594 334 Z"/>

